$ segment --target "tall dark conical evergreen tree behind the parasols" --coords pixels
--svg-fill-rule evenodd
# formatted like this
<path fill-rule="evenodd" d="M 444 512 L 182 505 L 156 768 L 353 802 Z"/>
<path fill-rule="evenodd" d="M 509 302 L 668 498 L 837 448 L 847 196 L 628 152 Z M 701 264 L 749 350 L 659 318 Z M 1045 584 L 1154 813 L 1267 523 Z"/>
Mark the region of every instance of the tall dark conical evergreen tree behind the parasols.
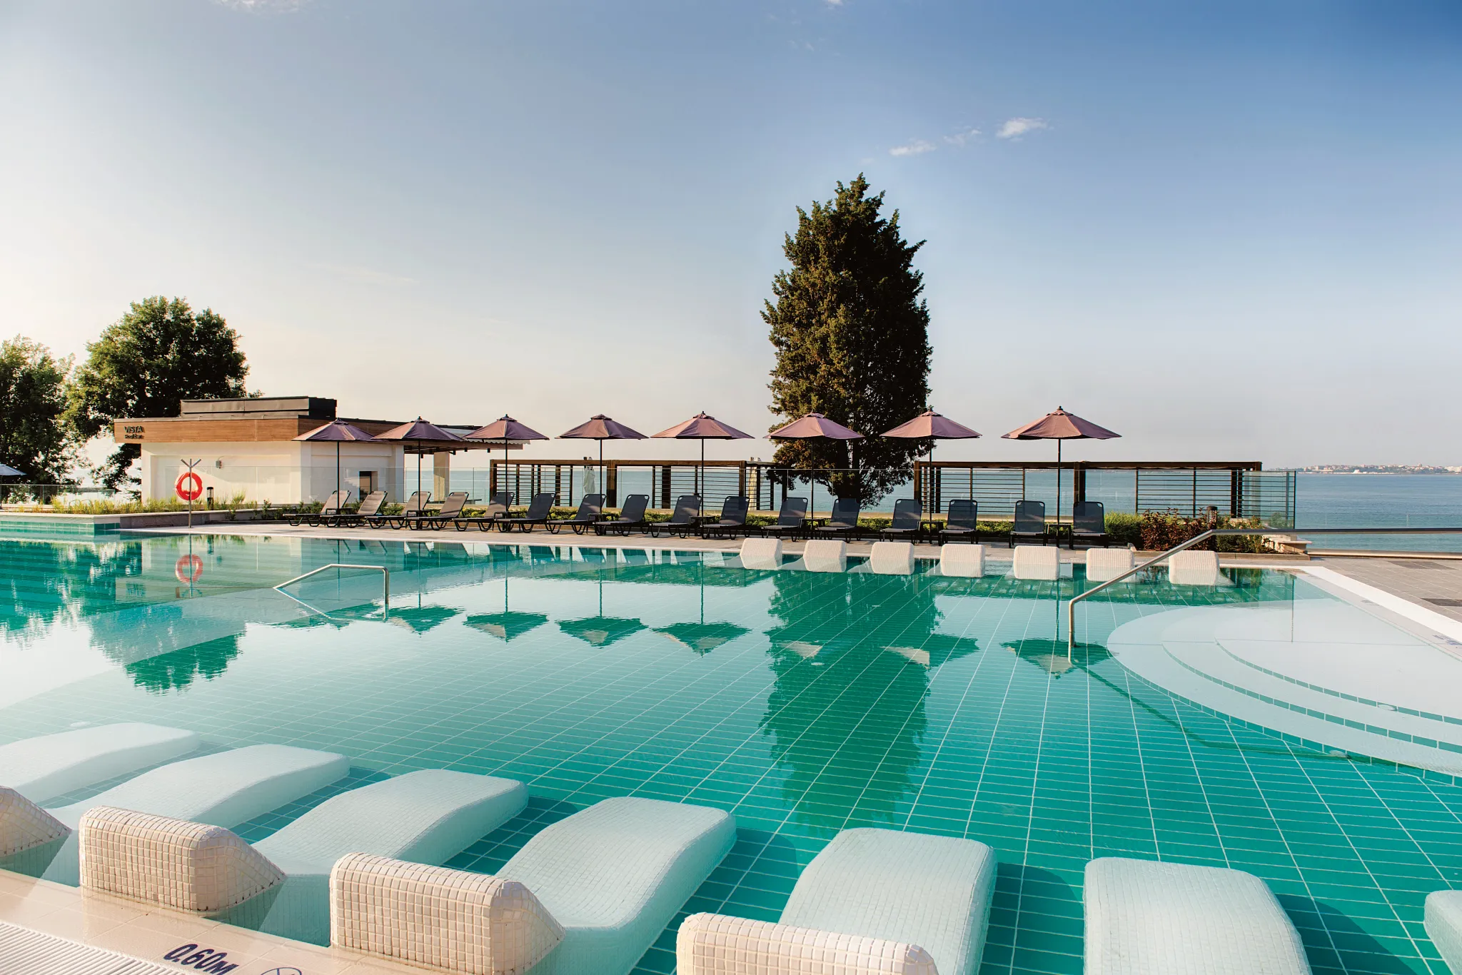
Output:
<path fill-rule="evenodd" d="M 921 440 L 877 437 L 928 409 L 928 306 L 924 275 L 899 232 L 899 212 L 880 215 L 883 194 L 868 181 L 838 183 L 836 197 L 797 208 L 797 232 L 782 246 L 788 270 L 772 281 L 770 327 L 776 367 L 772 412 L 794 420 L 820 412 L 870 436 L 852 444 L 788 441 L 778 463 L 810 468 L 858 466 L 855 475 L 819 477 L 839 497 L 867 503 L 908 479 Z"/>

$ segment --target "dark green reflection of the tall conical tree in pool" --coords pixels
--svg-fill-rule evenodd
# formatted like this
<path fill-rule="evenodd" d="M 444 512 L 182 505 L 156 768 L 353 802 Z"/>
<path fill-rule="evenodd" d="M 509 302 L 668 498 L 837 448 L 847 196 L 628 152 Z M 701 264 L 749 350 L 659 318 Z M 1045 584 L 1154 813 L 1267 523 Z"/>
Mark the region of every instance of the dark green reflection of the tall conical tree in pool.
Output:
<path fill-rule="evenodd" d="M 893 824 L 917 788 L 930 674 L 978 649 L 936 633 L 921 576 L 784 572 L 768 631 L 776 684 L 760 721 L 782 794 L 814 835 Z"/>

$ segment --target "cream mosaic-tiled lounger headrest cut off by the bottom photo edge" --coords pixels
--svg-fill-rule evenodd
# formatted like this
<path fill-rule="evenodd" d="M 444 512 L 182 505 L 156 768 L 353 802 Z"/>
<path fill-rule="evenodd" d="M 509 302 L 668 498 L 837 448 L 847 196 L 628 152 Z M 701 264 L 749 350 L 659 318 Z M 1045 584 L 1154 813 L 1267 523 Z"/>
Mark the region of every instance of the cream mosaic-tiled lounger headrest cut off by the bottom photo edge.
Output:
<path fill-rule="evenodd" d="M 675 933 L 677 975 L 939 975 L 917 944 L 721 914 L 693 914 Z"/>

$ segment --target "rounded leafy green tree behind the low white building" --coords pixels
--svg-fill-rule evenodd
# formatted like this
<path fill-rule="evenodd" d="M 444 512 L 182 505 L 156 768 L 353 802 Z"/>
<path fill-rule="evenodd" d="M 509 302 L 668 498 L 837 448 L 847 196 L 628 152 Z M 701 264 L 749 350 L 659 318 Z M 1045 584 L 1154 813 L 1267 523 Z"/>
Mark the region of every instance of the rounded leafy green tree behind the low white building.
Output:
<path fill-rule="evenodd" d="M 238 333 L 212 308 L 193 311 L 183 298 L 135 301 L 86 346 L 72 382 L 67 421 L 83 439 L 126 417 L 177 417 L 184 399 L 246 396 L 249 365 Z M 127 478 L 142 449 L 117 444 L 99 474 L 108 487 Z"/>

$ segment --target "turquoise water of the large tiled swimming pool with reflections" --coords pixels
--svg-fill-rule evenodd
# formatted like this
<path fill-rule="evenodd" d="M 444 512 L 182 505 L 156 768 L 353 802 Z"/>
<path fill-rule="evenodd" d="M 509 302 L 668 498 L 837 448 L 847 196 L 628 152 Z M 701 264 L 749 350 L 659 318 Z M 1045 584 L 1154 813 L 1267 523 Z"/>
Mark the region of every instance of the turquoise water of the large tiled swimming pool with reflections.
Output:
<path fill-rule="evenodd" d="M 389 614 L 379 573 L 270 588 L 327 563 L 387 566 Z M 1263 877 L 1316 972 L 1444 971 L 1421 905 L 1462 880 L 1462 789 L 1190 705 L 1107 652 L 1155 612 L 1332 599 L 1288 573 L 1117 586 L 1086 604 L 1067 662 L 1058 599 L 1080 569 L 822 574 L 719 553 L 230 536 L 0 541 L 0 741 L 148 721 L 215 748 L 351 757 L 349 779 L 247 839 L 341 788 L 450 767 L 532 794 L 449 864 L 466 870 L 645 795 L 737 817 L 687 912 L 775 919 L 839 829 L 885 826 L 996 848 L 984 972 L 1079 972 L 1082 868 L 1104 855 Z M 667 931 L 640 971 L 673 968 Z"/>

